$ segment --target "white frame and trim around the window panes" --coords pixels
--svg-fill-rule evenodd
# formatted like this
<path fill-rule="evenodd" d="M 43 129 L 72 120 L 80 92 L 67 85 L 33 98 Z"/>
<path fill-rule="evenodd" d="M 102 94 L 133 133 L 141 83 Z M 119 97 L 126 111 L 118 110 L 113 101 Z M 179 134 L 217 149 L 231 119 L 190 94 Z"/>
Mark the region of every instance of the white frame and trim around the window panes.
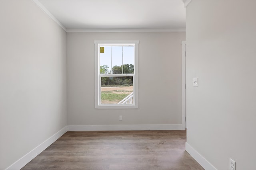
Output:
<path fill-rule="evenodd" d="M 134 75 L 133 75 L 133 94 L 134 94 L 134 104 L 120 105 L 120 104 L 100 104 L 101 95 L 101 76 L 100 76 L 100 44 L 135 44 L 135 59 L 134 59 Z M 138 63 L 139 63 L 139 41 L 100 41 L 95 40 L 95 109 L 138 109 L 139 108 L 139 73 L 138 73 Z M 122 74 L 124 75 L 124 74 Z M 120 76 L 118 74 L 111 74 L 110 76 Z M 126 74 L 130 76 L 130 74 Z"/>

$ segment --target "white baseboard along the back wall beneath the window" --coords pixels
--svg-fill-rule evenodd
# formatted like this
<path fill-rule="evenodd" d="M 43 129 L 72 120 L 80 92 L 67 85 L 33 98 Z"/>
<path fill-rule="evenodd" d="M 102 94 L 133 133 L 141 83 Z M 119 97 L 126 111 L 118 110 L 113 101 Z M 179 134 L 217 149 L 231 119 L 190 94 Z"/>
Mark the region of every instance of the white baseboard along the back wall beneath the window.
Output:
<path fill-rule="evenodd" d="M 68 131 L 182 130 L 182 125 L 68 125 Z"/>

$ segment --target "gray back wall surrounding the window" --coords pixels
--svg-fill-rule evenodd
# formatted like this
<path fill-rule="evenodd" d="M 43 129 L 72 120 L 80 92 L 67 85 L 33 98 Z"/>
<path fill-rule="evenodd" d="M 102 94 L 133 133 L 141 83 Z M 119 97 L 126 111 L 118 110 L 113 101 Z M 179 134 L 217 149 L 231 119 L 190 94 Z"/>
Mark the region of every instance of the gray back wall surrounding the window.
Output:
<path fill-rule="evenodd" d="M 94 40 L 140 41 L 139 109 L 94 109 Z M 182 40 L 185 32 L 67 33 L 68 125 L 182 124 Z"/>

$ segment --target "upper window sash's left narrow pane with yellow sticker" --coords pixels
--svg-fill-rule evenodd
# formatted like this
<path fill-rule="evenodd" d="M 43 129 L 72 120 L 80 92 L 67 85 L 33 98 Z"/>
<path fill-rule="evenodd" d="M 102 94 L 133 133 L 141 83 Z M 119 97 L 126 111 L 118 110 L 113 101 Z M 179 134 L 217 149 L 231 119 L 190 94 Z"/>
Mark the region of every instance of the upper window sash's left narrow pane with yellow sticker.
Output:
<path fill-rule="evenodd" d="M 104 52 L 100 52 L 100 74 L 108 74 L 111 69 L 111 47 L 110 46 L 100 46 L 104 47 Z"/>

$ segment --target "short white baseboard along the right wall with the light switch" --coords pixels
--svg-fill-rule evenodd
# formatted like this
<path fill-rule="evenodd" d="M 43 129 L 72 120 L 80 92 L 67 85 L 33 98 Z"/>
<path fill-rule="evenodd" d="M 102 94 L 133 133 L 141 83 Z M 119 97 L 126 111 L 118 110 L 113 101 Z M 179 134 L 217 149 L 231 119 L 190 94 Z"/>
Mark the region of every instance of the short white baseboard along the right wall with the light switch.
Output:
<path fill-rule="evenodd" d="M 186 143 L 186 151 L 205 169 L 217 170 L 208 160 L 206 160 L 200 153 Z"/>

